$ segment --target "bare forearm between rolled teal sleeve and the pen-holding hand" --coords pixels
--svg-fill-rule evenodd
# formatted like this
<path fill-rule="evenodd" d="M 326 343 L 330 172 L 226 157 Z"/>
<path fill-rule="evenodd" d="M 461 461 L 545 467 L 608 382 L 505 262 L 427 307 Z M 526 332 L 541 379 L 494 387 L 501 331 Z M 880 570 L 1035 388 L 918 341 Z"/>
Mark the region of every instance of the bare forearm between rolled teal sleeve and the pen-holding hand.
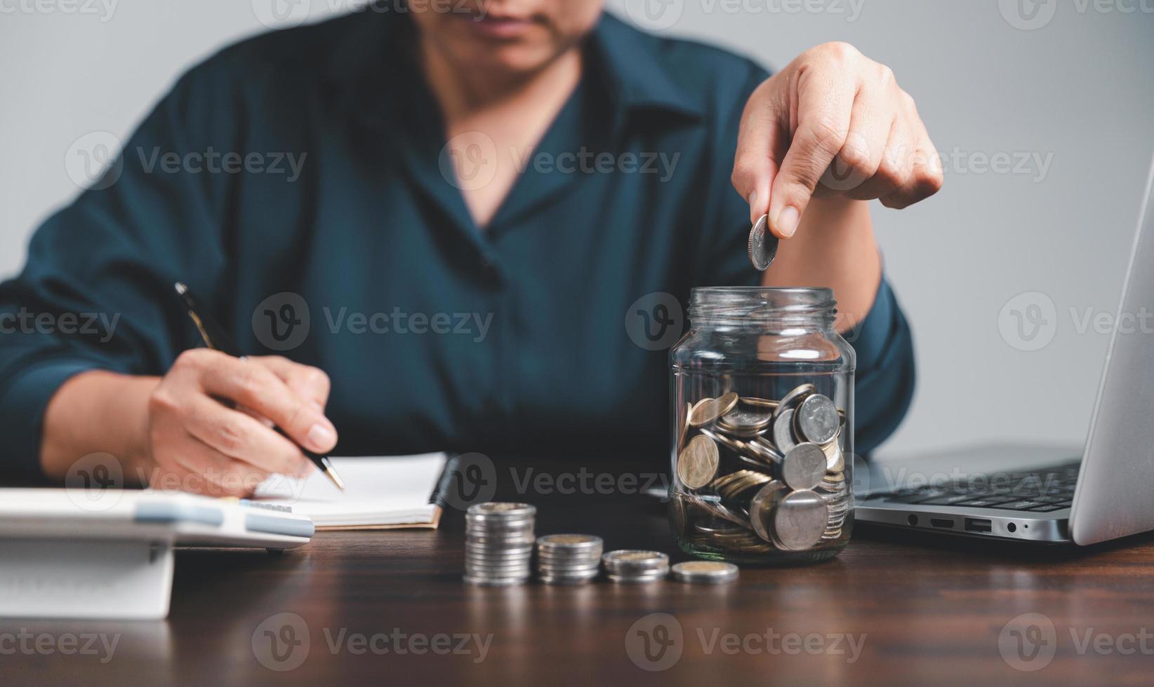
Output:
<path fill-rule="evenodd" d="M 125 481 L 140 483 L 148 459 L 148 401 L 159 377 L 103 370 L 66 382 L 44 413 L 40 468 L 62 480 L 80 459 L 108 453 L 121 463 Z"/>

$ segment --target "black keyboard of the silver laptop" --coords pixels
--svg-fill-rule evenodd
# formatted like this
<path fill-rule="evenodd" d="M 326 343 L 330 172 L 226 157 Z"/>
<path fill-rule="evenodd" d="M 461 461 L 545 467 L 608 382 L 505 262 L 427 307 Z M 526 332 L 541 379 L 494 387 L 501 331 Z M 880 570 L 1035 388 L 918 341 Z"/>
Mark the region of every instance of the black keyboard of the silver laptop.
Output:
<path fill-rule="evenodd" d="M 953 484 L 927 484 L 901 489 L 883 498 L 890 503 L 921 506 L 965 506 L 1052 513 L 1069 508 L 1078 484 L 1081 461 L 1063 463 L 1032 473 L 972 475 Z"/>

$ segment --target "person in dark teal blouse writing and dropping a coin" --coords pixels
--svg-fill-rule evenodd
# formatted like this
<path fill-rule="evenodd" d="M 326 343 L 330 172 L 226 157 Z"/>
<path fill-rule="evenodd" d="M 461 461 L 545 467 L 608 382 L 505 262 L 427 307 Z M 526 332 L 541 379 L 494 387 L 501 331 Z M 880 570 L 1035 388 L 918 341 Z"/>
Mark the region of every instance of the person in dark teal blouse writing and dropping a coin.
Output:
<path fill-rule="evenodd" d="M 0 338 L 9 474 L 106 452 L 241 495 L 312 469 L 270 423 L 316 452 L 659 455 L 665 352 L 622 314 L 758 281 L 834 289 L 859 447 L 893 430 L 913 353 L 868 201 L 942 175 L 887 68 L 829 44 L 771 77 L 591 0 L 402 9 L 197 66 L 40 227 L 0 315 L 114 324 Z M 744 242 L 766 213 L 785 241 L 763 277 Z M 181 353 L 177 280 L 242 349 L 285 357 Z"/>

